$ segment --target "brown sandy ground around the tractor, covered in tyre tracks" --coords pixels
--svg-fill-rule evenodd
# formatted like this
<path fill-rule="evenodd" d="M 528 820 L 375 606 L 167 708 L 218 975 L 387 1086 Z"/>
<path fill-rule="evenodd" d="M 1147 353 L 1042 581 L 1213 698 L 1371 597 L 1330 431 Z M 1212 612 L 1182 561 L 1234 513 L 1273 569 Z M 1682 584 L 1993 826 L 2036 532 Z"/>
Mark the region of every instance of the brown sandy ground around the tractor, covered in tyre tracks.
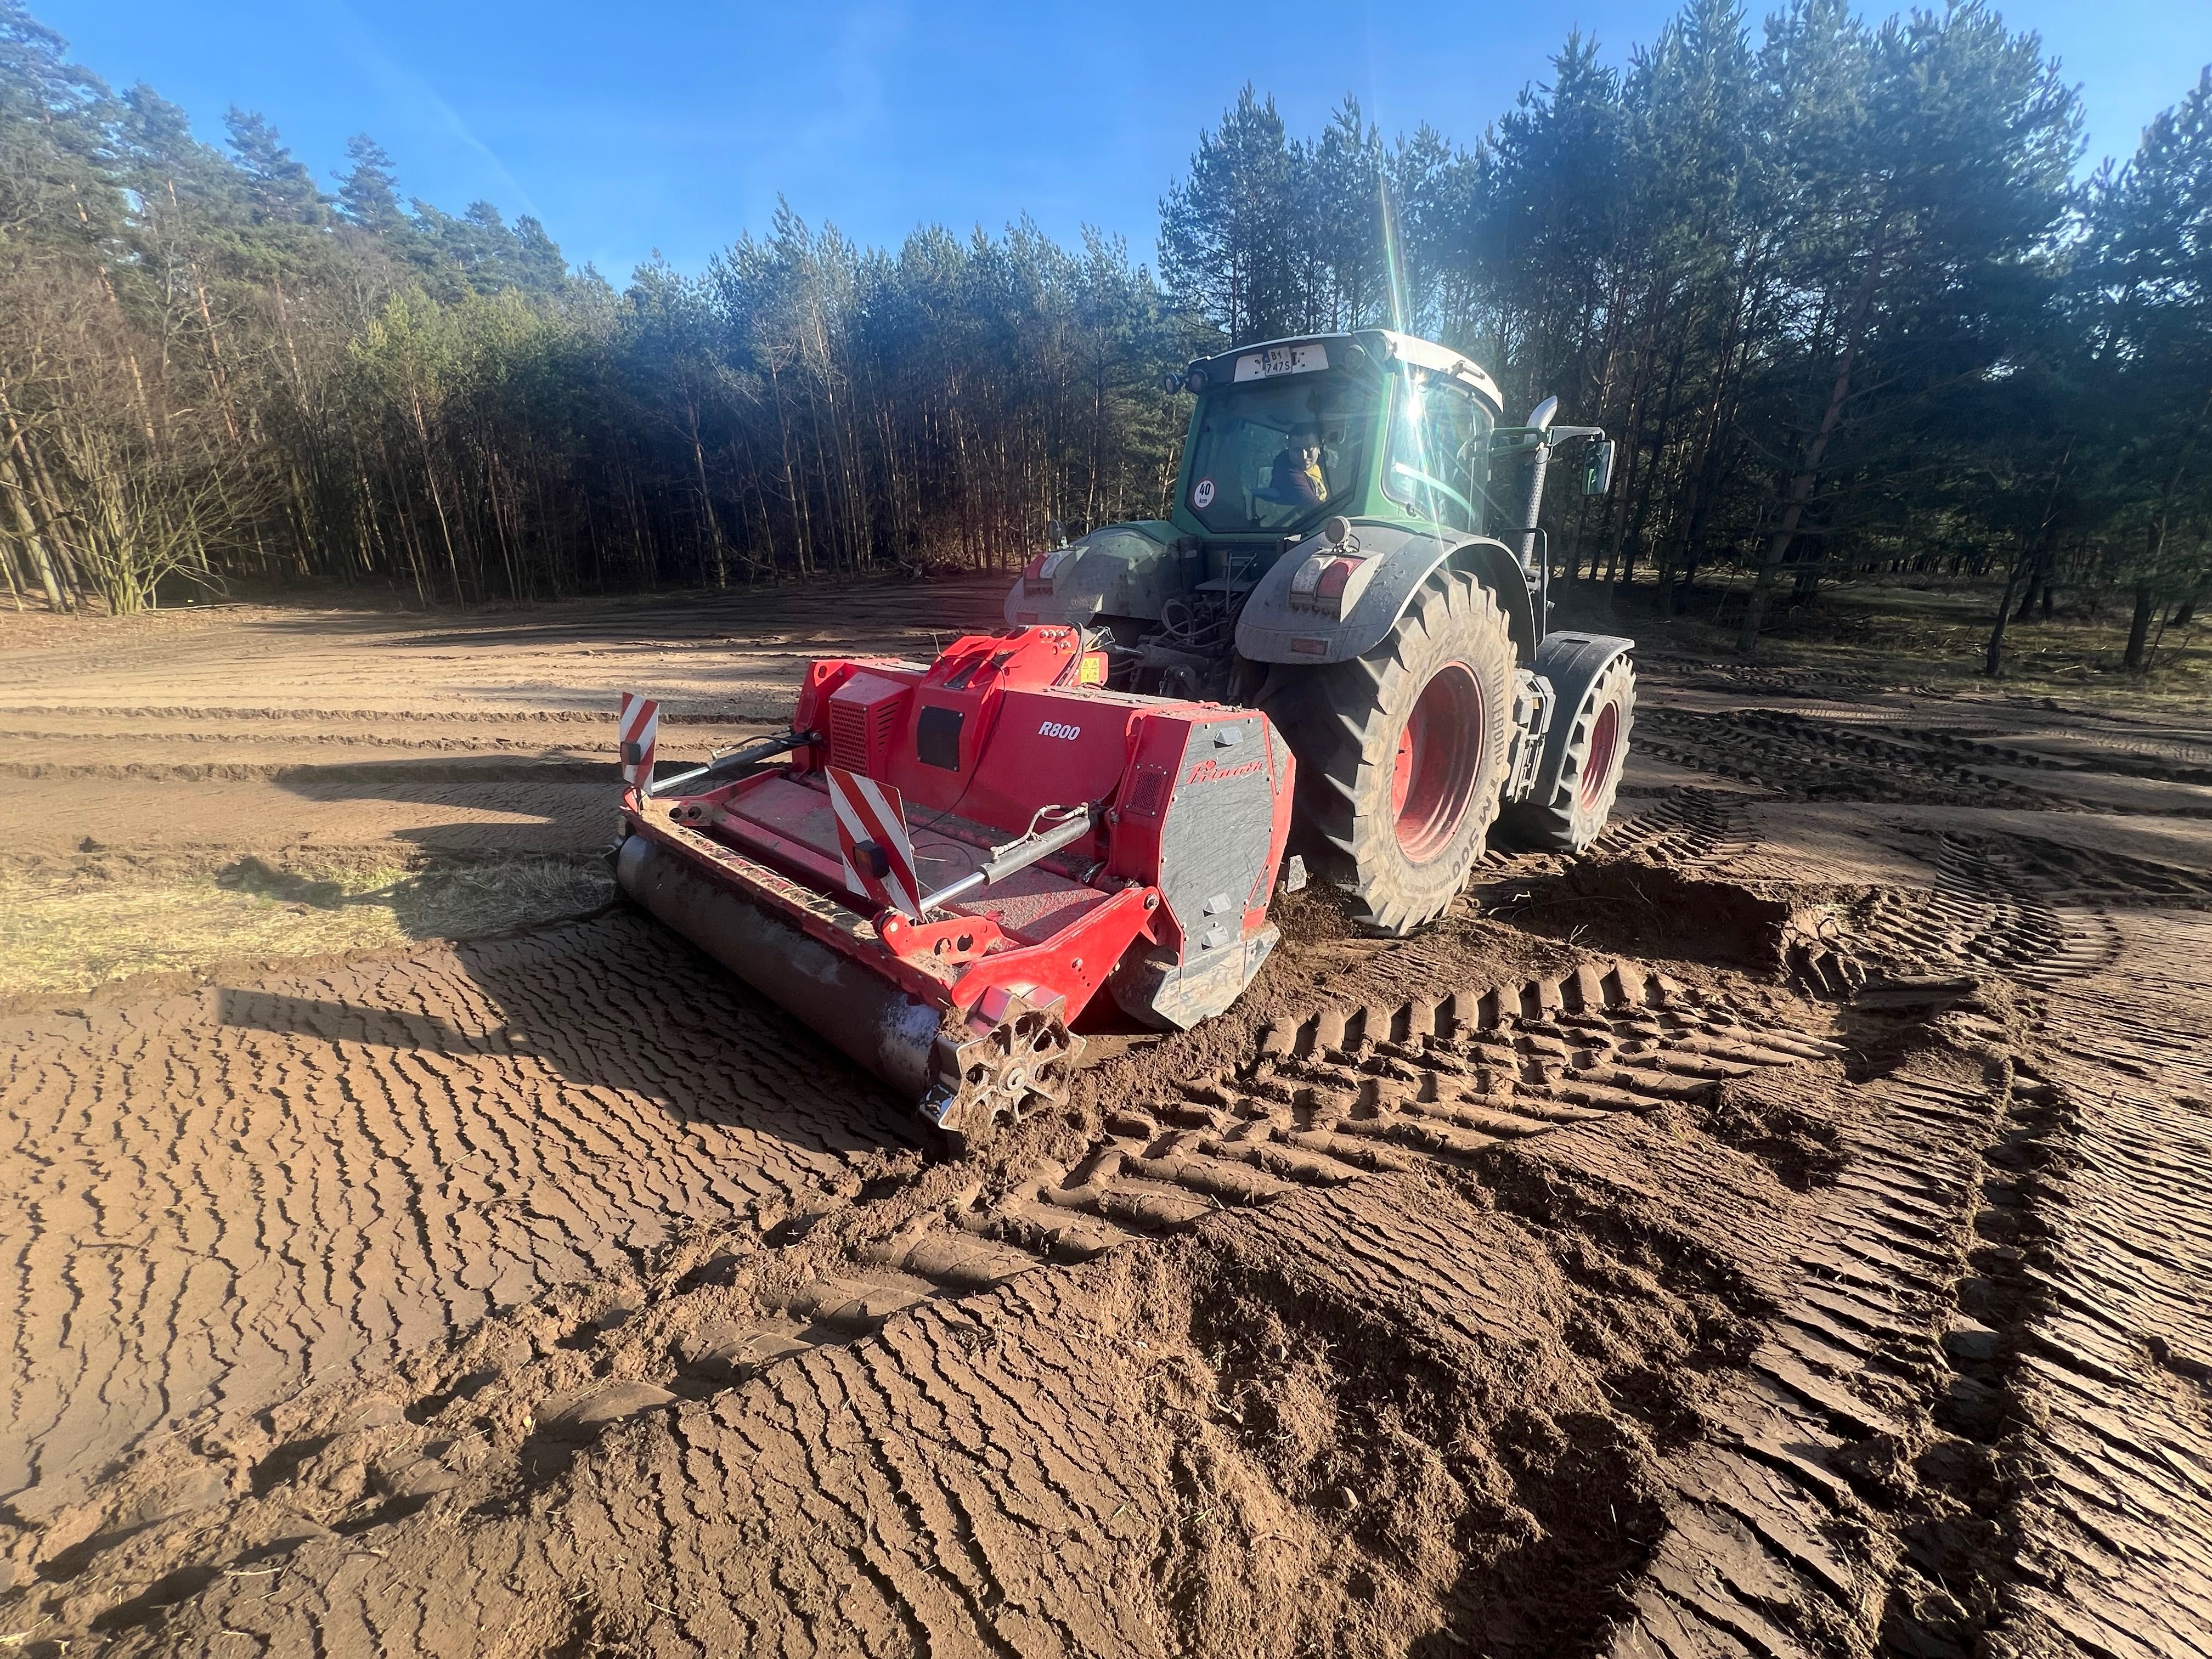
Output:
<path fill-rule="evenodd" d="M 2212 732 L 1655 653 L 1593 858 L 947 1166 L 588 872 L 613 690 L 993 615 L 11 639 L 0 1641 L 2212 1652 Z"/>

